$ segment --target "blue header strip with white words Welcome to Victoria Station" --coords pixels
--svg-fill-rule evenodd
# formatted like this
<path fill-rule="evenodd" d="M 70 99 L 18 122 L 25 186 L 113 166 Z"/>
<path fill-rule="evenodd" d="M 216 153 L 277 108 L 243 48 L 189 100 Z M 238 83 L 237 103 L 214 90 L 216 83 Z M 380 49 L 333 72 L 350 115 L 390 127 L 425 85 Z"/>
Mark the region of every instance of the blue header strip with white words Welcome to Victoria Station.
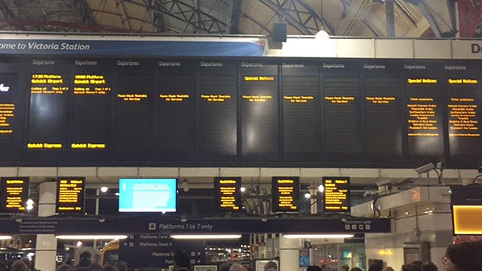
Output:
<path fill-rule="evenodd" d="M 102 56 L 263 56 L 254 42 L 0 40 L 1 54 Z"/>

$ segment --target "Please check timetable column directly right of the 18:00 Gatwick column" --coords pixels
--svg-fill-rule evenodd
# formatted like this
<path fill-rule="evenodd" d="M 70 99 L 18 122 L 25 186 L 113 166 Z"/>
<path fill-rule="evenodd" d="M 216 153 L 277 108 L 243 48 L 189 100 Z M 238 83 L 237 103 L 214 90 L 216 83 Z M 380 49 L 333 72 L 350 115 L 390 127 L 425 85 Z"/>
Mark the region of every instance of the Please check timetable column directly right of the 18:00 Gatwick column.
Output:
<path fill-rule="evenodd" d="M 113 158 L 121 161 L 153 159 L 154 76 L 148 60 L 116 62 Z"/>

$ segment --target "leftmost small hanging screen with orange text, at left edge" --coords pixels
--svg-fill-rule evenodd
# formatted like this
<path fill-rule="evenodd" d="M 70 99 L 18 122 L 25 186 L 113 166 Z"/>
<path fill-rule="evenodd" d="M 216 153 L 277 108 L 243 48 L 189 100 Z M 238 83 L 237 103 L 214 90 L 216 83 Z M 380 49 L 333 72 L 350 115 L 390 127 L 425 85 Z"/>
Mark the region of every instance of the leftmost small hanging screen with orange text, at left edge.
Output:
<path fill-rule="evenodd" d="M 28 177 L 2 177 L 0 179 L 0 213 L 24 212 L 28 199 Z"/>

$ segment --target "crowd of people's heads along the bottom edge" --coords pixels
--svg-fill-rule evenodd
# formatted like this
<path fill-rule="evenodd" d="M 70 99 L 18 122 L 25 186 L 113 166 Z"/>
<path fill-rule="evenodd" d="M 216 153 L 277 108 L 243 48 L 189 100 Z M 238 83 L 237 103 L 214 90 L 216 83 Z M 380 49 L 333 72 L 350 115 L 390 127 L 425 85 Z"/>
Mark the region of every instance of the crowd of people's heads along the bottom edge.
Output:
<path fill-rule="evenodd" d="M 445 271 L 482 271 L 482 241 L 467 242 L 450 245 L 441 261 Z M 191 271 L 191 262 L 189 255 L 185 251 L 179 251 L 173 259 L 174 271 Z M 8 271 L 36 271 L 32 267 L 32 263 L 26 258 L 19 259 L 10 266 Z M 56 271 L 127 271 L 127 264 L 117 262 L 115 265 L 101 266 L 92 263 L 90 255 L 80 255 L 79 264 L 72 267 L 68 264 L 59 266 Z M 252 267 L 244 267 L 242 265 L 222 264 L 218 271 L 253 271 Z M 264 266 L 264 271 L 278 271 L 276 262 L 268 262 Z M 310 266 L 307 271 L 333 271 L 328 265 Z M 359 267 L 342 266 L 341 271 L 362 271 Z M 410 264 L 403 265 L 400 269 L 393 267 L 382 268 L 377 264 L 373 264 L 368 271 L 438 271 L 438 268 L 432 262 L 422 263 L 414 261 Z"/>

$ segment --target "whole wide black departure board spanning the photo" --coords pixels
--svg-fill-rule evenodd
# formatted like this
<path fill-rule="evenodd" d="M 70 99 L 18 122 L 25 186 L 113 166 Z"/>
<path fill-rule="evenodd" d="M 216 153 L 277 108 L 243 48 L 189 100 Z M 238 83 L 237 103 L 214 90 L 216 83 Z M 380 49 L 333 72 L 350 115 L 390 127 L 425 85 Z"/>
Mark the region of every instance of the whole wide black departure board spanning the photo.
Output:
<path fill-rule="evenodd" d="M 482 163 L 476 61 L 23 57 L 0 63 L 0 166 Z"/>

